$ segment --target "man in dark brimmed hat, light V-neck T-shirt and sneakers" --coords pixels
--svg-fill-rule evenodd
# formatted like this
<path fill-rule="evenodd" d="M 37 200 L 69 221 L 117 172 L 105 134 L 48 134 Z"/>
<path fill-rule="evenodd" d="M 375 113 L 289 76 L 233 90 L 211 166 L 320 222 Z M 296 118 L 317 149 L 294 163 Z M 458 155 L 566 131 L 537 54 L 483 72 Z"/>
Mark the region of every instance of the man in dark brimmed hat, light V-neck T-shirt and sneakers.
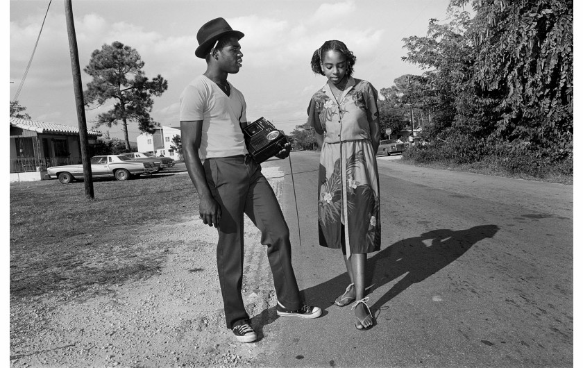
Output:
<path fill-rule="evenodd" d="M 261 230 L 261 242 L 267 246 L 278 315 L 316 318 L 322 311 L 301 300 L 289 229 L 271 185 L 245 147 L 241 129 L 247 124 L 245 99 L 227 82 L 228 74 L 242 67 L 239 40 L 243 36 L 223 18 L 212 19 L 198 30 L 194 54 L 206 60 L 207 70 L 180 95 L 180 131 L 186 168 L 200 198 L 201 219 L 219 231 L 217 269 L 227 328 L 239 342 L 252 342 L 257 333 L 249 324 L 241 294 L 244 213 Z M 289 149 L 288 144 L 278 157 L 287 157 Z"/>

